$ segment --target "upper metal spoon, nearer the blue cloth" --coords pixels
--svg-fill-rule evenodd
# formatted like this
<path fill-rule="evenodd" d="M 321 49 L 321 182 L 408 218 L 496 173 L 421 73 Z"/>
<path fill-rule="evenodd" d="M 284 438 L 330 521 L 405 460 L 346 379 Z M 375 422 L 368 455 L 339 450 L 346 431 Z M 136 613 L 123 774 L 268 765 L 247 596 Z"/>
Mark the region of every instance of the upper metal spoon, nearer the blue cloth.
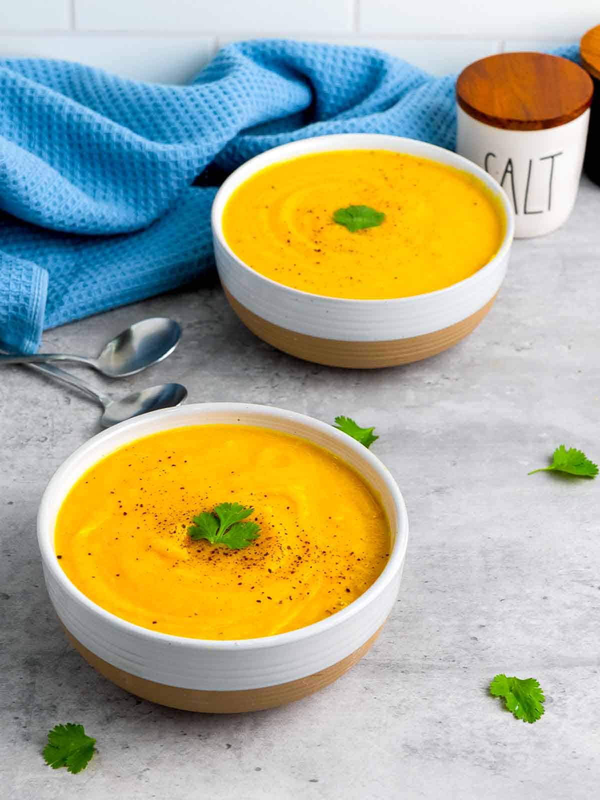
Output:
<path fill-rule="evenodd" d="M 65 353 L 0 355 L 2 364 L 39 364 L 71 361 L 94 367 L 108 378 L 125 378 L 162 361 L 177 347 L 182 330 L 174 319 L 152 317 L 136 322 L 112 339 L 98 358 Z"/>

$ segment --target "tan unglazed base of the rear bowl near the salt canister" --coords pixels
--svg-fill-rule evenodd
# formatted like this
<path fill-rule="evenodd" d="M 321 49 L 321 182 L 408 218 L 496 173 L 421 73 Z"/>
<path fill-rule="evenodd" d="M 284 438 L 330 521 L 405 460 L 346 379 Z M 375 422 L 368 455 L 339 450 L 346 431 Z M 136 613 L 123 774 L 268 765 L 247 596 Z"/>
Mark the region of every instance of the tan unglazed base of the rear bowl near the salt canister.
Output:
<path fill-rule="evenodd" d="M 225 287 L 223 287 L 225 288 Z M 497 294 L 470 317 L 431 334 L 411 338 L 394 339 L 387 342 L 340 342 L 306 334 L 297 334 L 273 322 L 258 317 L 225 289 L 231 307 L 247 328 L 258 338 L 283 350 L 284 353 L 303 358 L 316 364 L 342 366 L 350 369 L 374 370 L 382 366 L 410 364 L 430 358 L 448 350 L 465 338 L 486 316 L 494 304 Z"/>

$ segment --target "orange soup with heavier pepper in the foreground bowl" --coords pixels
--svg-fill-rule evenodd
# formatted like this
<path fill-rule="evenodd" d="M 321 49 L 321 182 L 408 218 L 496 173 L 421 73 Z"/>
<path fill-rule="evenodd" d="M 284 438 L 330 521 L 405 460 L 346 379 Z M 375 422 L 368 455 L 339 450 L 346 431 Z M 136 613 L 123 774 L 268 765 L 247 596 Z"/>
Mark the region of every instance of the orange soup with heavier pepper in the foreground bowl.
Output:
<path fill-rule="evenodd" d="M 203 512 L 216 529 L 223 502 L 251 507 L 244 522 L 260 526 L 242 549 L 190 535 Z M 54 546 L 71 582 L 118 617 L 243 639 L 345 608 L 386 565 L 390 526 L 370 487 L 326 450 L 264 428 L 202 425 L 95 464 L 59 510 Z"/>

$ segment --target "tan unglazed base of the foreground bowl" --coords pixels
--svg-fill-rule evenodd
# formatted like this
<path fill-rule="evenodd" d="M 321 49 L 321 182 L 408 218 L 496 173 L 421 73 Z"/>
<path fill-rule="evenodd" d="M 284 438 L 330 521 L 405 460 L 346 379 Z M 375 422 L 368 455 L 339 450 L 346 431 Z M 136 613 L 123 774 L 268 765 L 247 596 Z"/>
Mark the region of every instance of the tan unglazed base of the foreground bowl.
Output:
<path fill-rule="evenodd" d="M 145 678 L 138 678 L 129 672 L 119 670 L 116 666 L 109 664 L 78 642 L 68 630 L 65 630 L 67 638 L 82 654 L 83 658 L 98 670 L 98 672 L 108 678 L 109 681 L 121 686 L 122 689 L 136 694 L 145 700 L 157 702 L 161 706 L 170 706 L 185 711 L 202 711 L 205 714 L 237 714 L 241 711 L 260 711 L 274 706 L 283 706 L 285 703 L 300 700 L 308 694 L 329 686 L 336 681 L 351 666 L 354 666 L 370 646 L 373 645 L 382 630 L 381 626 L 375 631 L 373 636 L 368 639 L 354 653 L 342 658 L 326 670 L 315 672 L 306 678 L 298 678 L 297 681 L 280 683 L 278 686 L 265 686 L 262 689 L 246 689 L 239 691 L 203 691 L 193 689 L 180 689 L 178 686 L 166 686 L 164 683 L 146 681 Z"/>

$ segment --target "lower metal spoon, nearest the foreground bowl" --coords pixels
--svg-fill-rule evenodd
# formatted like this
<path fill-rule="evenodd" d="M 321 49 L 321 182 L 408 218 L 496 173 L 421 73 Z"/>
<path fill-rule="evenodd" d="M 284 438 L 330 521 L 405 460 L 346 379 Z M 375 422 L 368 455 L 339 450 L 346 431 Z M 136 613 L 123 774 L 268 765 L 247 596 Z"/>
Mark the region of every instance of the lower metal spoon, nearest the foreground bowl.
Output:
<path fill-rule="evenodd" d="M 31 364 L 30 366 L 31 369 L 66 383 L 67 386 L 74 386 L 76 389 L 82 390 L 90 398 L 98 402 L 104 408 L 100 424 L 105 428 L 131 417 L 138 417 L 139 414 L 146 414 L 146 411 L 180 406 L 187 397 L 186 387 L 182 386 L 181 383 L 162 383 L 160 386 L 151 386 L 150 389 L 144 389 L 141 392 L 134 392 L 124 398 L 113 400 L 98 394 L 81 378 L 76 378 L 70 372 L 59 369 L 58 366 L 39 366 L 38 364 Z"/>

